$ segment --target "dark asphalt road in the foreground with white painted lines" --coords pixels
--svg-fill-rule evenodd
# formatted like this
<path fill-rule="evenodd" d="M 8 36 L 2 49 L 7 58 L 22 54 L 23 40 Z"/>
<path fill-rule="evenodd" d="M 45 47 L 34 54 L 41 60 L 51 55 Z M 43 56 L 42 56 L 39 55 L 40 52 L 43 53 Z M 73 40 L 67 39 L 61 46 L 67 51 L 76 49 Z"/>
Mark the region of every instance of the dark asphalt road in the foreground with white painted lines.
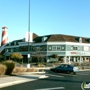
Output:
<path fill-rule="evenodd" d="M 79 72 L 77 75 L 61 74 L 47 71 L 46 79 L 39 79 L 0 90 L 82 90 L 82 82 L 90 83 L 90 71 Z"/>

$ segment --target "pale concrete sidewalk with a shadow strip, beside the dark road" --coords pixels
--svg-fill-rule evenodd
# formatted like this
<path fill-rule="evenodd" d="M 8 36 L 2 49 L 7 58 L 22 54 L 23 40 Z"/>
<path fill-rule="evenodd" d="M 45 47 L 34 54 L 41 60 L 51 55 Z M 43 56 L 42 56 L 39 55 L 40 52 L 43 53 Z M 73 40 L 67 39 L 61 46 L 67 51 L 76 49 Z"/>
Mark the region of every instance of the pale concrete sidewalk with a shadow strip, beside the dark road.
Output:
<path fill-rule="evenodd" d="M 0 78 L 0 88 L 12 86 L 20 83 L 25 83 L 29 81 L 34 81 L 37 79 L 47 78 L 46 75 L 34 74 L 34 73 L 24 73 L 22 75 L 16 76 L 6 76 Z"/>

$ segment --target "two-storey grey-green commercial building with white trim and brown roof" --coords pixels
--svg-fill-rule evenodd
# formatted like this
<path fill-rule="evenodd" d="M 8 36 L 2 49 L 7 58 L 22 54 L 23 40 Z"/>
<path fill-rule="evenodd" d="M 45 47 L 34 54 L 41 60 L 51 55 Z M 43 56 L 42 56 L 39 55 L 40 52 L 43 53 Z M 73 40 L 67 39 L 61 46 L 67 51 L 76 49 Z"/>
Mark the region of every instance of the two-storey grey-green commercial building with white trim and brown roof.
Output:
<path fill-rule="evenodd" d="M 28 42 L 28 33 L 26 37 L 20 40 L 14 40 L 6 43 L 5 56 L 9 56 L 13 52 L 20 52 L 24 61 L 28 60 L 28 45 L 30 47 L 30 61 L 36 61 L 34 56 L 45 56 L 43 61 L 53 61 L 52 54 L 59 56 L 58 60 L 65 63 L 84 62 L 90 60 L 90 38 L 71 36 L 63 34 L 51 34 L 38 36 L 35 33 L 29 33 L 30 41 Z"/>

